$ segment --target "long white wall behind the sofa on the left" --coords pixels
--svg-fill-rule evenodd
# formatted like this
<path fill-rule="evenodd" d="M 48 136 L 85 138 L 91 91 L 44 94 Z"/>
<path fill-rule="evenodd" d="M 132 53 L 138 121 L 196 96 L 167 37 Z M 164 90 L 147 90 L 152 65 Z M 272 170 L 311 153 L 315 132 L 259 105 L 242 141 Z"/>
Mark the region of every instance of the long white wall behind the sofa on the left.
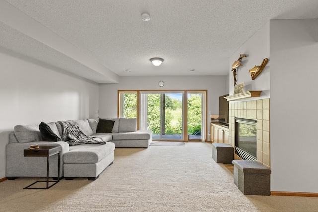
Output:
<path fill-rule="evenodd" d="M 98 84 L 0 48 L 0 179 L 18 124 L 96 117 Z"/>

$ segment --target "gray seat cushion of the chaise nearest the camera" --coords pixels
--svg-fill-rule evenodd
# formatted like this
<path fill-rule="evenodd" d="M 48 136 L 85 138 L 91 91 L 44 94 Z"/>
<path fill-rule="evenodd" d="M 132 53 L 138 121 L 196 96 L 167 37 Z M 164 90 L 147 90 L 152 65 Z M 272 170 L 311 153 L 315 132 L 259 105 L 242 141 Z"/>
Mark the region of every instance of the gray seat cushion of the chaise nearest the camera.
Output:
<path fill-rule="evenodd" d="M 70 146 L 70 151 L 63 155 L 64 163 L 97 163 L 115 150 L 115 144 L 83 144 Z"/>

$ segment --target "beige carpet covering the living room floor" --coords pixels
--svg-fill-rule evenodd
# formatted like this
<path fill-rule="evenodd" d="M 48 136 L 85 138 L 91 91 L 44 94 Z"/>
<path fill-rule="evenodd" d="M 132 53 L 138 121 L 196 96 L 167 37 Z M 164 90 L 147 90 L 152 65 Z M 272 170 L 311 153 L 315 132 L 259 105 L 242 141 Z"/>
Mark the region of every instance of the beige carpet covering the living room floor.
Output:
<path fill-rule="evenodd" d="M 115 150 L 96 181 L 62 179 L 23 190 L 36 179 L 0 183 L 1 212 L 309 212 L 318 198 L 243 195 L 232 173 L 212 159 L 210 143 Z"/>

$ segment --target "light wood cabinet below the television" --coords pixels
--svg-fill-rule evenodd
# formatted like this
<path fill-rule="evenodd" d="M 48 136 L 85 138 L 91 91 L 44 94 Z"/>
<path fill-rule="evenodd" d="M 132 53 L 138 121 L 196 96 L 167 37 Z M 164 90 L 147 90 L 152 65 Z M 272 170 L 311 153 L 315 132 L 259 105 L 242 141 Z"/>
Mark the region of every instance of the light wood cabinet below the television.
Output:
<path fill-rule="evenodd" d="M 211 143 L 229 143 L 229 128 L 218 123 L 210 123 Z"/>

